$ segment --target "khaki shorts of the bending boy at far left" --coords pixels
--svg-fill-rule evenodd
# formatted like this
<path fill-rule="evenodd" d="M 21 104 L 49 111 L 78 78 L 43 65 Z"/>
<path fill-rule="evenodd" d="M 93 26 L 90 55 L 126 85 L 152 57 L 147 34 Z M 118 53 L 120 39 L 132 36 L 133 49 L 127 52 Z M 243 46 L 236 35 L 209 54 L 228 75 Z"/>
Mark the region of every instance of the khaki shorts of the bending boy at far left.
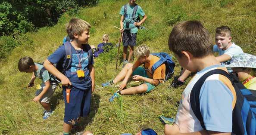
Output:
<path fill-rule="evenodd" d="M 35 96 L 39 95 L 43 91 L 45 84 L 41 83 L 40 86 L 41 86 L 41 88 L 36 90 L 36 92 L 34 94 Z M 44 93 L 44 95 L 40 99 L 40 102 L 49 103 L 57 86 L 58 86 L 58 84 L 56 84 L 56 83 L 50 84 L 50 88 L 47 90 L 46 93 Z"/>

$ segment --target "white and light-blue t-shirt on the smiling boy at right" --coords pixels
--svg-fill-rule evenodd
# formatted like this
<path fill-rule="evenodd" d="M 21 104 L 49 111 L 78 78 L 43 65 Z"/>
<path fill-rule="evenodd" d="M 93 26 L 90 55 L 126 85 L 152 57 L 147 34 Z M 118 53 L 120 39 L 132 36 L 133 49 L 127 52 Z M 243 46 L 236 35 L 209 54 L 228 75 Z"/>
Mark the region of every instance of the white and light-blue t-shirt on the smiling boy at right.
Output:
<path fill-rule="evenodd" d="M 223 50 L 223 49 L 219 49 L 219 47 L 217 45 L 214 45 L 213 46 L 213 52 L 219 52 L 219 56 L 220 55 L 223 55 L 223 54 L 227 54 L 229 55 L 231 58 L 234 56 L 234 55 L 239 55 L 241 53 L 244 53 L 243 50 L 241 49 L 240 46 L 237 46 L 235 45 L 234 43 L 232 43 L 232 45 L 226 49 L 226 50 Z M 227 61 L 228 62 L 228 61 Z M 223 62 L 225 63 L 225 62 Z"/>

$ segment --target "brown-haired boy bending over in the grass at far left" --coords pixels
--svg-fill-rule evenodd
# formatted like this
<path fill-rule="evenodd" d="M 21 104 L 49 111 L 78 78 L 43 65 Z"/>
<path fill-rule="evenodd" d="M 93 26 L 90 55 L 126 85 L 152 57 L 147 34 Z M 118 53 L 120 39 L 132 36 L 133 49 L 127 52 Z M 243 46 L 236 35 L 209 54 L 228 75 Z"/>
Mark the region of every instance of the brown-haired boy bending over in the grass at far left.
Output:
<path fill-rule="evenodd" d="M 33 73 L 28 87 L 34 86 L 34 80 L 36 77 L 42 80 L 41 85 L 37 85 L 37 91 L 35 92 L 34 102 L 40 102 L 42 107 L 44 107 L 43 119 L 47 119 L 53 114 L 51 110 L 50 100 L 58 83 L 53 80 L 48 71 L 44 70 L 42 74 L 41 69 L 44 68 L 42 64 L 34 63 L 33 59 L 30 57 L 24 57 L 19 60 L 18 68 L 20 72 Z"/>

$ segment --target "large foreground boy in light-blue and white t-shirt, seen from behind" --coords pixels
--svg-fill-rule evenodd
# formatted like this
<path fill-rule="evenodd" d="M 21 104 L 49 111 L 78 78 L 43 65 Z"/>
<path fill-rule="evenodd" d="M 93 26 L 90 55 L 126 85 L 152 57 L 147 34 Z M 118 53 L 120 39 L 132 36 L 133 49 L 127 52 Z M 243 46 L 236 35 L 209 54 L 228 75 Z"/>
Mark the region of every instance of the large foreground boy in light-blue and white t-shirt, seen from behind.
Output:
<path fill-rule="evenodd" d="M 236 95 L 232 94 L 234 87 L 227 77 L 213 74 L 206 78 L 200 89 L 200 112 L 206 130 L 191 109 L 191 90 L 197 81 L 217 68 L 228 72 L 212 53 L 208 31 L 199 21 L 181 22 L 172 29 L 169 49 L 181 67 L 197 74 L 182 93 L 175 124 L 165 125 L 165 135 L 231 135 Z"/>

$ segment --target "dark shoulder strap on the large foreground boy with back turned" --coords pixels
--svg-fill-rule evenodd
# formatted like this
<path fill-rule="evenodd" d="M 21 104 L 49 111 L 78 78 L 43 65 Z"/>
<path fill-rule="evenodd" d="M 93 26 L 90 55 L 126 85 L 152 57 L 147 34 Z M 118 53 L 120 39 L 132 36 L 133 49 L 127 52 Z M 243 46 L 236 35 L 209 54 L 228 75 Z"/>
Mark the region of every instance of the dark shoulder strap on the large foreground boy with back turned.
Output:
<path fill-rule="evenodd" d="M 199 101 L 200 90 L 201 90 L 201 87 L 203 86 L 203 83 L 205 82 L 206 78 L 213 74 L 222 74 L 225 77 L 228 77 L 228 79 L 230 80 L 230 75 L 226 71 L 221 70 L 221 69 L 214 69 L 214 70 L 209 71 L 206 74 L 204 74 L 197 81 L 197 83 L 193 86 L 193 88 L 190 92 L 190 106 L 191 106 L 194 114 L 196 115 L 197 119 L 200 121 L 200 124 L 203 127 L 203 129 L 206 129 L 206 128 L 203 123 L 203 117 L 202 117 L 202 114 L 200 111 L 200 101 Z"/>

